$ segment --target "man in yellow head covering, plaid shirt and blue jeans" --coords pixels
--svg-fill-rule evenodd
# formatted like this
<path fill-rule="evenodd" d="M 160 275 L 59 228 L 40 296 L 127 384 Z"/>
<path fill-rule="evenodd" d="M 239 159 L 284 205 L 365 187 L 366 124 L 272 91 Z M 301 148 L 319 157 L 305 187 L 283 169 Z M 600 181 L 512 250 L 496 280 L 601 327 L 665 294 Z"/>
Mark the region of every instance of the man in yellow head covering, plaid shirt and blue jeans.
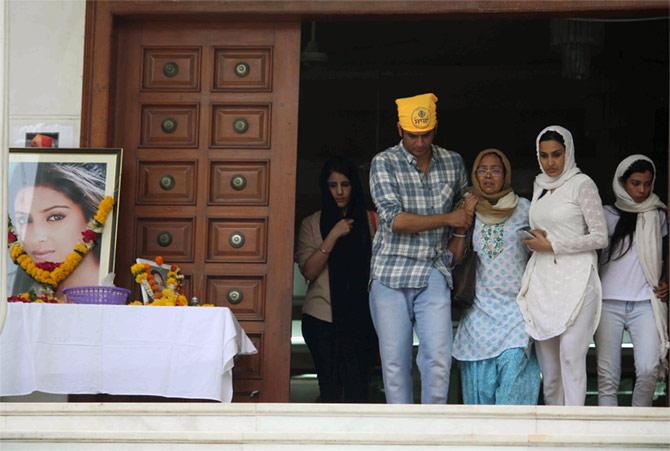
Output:
<path fill-rule="evenodd" d="M 378 153 L 370 192 L 379 228 L 372 249 L 370 310 L 388 403 L 412 403 L 412 338 L 419 337 L 421 402 L 447 402 L 451 369 L 452 227 L 469 227 L 476 197 L 453 210 L 468 185 L 463 158 L 433 144 L 437 97 L 396 100 L 401 141 Z M 460 235 L 460 234 L 459 234 Z"/>

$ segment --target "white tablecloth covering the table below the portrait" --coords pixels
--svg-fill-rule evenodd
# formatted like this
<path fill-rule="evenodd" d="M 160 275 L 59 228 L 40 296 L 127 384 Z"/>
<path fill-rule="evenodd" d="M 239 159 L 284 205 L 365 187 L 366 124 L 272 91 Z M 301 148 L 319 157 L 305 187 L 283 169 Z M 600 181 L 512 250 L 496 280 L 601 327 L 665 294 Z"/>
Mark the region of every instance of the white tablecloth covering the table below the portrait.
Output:
<path fill-rule="evenodd" d="M 11 303 L 0 396 L 33 391 L 215 399 L 256 348 L 230 309 Z"/>

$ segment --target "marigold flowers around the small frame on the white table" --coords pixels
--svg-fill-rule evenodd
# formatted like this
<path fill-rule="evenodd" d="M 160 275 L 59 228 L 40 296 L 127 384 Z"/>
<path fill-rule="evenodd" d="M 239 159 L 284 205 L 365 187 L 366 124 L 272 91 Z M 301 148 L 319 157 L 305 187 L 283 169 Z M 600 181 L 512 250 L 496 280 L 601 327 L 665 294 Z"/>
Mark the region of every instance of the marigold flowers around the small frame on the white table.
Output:
<path fill-rule="evenodd" d="M 156 257 L 156 264 L 163 266 L 163 257 Z M 151 265 L 146 263 L 135 263 L 130 267 L 130 272 L 135 277 L 135 282 L 139 283 L 149 297 L 147 305 L 154 306 L 187 306 L 188 301 L 184 296 L 184 274 L 177 265 L 171 265 L 167 273 L 165 287 L 161 288 L 155 281 L 151 273 Z M 141 301 L 133 301 L 131 305 L 143 305 Z"/>

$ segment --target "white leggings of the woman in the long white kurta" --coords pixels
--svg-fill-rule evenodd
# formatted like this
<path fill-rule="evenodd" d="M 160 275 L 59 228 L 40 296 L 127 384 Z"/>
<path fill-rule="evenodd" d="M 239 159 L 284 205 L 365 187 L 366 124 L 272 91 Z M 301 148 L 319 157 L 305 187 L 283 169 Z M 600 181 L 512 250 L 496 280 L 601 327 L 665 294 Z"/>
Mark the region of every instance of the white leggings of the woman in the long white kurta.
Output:
<path fill-rule="evenodd" d="M 582 309 L 565 332 L 537 341 L 546 405 L 583 406 L 586 400 L 586 353 L 600 299 L 587 289 Z"/>

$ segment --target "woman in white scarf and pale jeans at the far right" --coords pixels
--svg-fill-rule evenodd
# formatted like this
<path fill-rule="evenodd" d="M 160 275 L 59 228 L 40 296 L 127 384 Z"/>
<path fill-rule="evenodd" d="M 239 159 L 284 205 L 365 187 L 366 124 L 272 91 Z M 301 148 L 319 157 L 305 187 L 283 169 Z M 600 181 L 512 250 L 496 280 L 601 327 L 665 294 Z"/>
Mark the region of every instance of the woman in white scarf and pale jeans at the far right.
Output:
<path fill-rule="evenodd" d="M 668 284 L 662 280 L 666 206 L 653 193 L 656 168 L 644 155 L 617 167 L 614 206 L 605 207 L 610 246 L 603 253 L 603 313 L 596 331 L 598 404 L 616 406 L 621 378 L 621 341 L 633 341 L 633 406 L 651 406 L 656 379 L 667 368 Z M 664 279 L 664 277 L 663 277 Z"/>

